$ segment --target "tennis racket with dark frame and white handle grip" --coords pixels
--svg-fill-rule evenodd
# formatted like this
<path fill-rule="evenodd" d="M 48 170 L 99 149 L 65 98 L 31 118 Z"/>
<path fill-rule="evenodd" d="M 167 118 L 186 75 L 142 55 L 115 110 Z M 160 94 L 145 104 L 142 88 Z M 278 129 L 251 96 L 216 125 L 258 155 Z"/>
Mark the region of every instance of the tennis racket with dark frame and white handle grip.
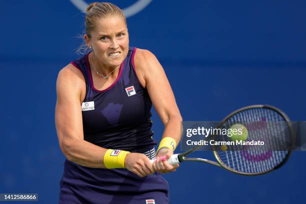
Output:
<path fill-rule="evenodd" d="M 230 128 L 233 124 L 243 124 L 248 128 L 247 140 L 261 139 L 266 146 L 263 149 L 238 148 L 236 145 L 226 145 L 226 150 L 214 147 L 213 154 L 217 160 L 204 158 L 189 158 L 188 154 L 198 150 L 197 145 L 183 153 L 173 154 L 167 161 L 176 164 L 184 161 L 199 161 L 223 167 L 234 173 L 243 175 L 259 175 L 270 172 L 283 165 L 294 147 L 294 135 L 291 122 L 280 109 L 271 105 L 250 105 L 242 107 L 227 115 L 218 128 Z M 213 140 L 230 140 L 228 136 L 208 135 Z M 154 160 L 152 160 L 153 162 Z"/>

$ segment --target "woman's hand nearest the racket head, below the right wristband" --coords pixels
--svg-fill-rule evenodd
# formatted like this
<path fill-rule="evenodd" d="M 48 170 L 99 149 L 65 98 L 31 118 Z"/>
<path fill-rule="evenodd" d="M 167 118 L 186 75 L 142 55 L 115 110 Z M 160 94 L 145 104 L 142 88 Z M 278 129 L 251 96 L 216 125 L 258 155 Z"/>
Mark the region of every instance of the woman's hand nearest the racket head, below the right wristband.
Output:
<path fill-rule="evenodd" d="M 173 154 L 173 150 L 169 148 L 160 148 L 156 155 L 156 160 L 152 164 L 154 171 L 158 171 L 160 173 L 168 173 L 171 171 L 175 171 L 179 166 L 178 163 L 175 165 L 171 165 L 168 163 L 168 158 Z"/>

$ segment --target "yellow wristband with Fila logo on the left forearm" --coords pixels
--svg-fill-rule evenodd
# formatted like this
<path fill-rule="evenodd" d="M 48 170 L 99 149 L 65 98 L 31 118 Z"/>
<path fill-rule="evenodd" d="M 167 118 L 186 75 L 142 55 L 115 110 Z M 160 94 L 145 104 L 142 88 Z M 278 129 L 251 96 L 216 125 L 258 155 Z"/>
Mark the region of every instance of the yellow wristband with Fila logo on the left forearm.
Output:
<path fill-rule="evenodd" d="M 107 149 L 103 162 L 106 168 L 125 168 L 124 159 L 129 151 L 123 151 L 118 149 Z"/>

